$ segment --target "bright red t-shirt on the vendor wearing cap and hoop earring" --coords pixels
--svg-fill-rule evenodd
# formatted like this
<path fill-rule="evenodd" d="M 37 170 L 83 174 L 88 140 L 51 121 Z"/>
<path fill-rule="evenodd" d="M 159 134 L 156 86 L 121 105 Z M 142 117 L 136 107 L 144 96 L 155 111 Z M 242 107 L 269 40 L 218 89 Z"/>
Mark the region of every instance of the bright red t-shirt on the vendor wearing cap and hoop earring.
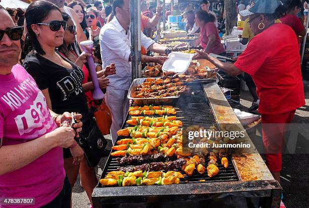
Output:
<path fill-rule="evenodd" d="M 284 113 L 305 104 L 297 38 L 289 26 L 276 23 L 254 36 L 234 65 L 252 77 L 259 113 Z"/>

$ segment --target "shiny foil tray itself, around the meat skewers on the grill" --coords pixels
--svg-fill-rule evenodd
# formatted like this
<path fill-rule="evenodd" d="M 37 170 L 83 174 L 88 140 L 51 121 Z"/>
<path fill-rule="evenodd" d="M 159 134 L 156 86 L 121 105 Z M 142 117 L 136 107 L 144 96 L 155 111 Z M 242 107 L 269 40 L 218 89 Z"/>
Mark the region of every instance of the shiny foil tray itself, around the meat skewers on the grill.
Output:
<path fill-rule="evenodd" d="M 163 98 L 135 98 L 135 89 L 138 85 L 142 84 L 147 78 L 138 78 L 133 80 L 132 85 L 130 86 L 128 98 L 133 100 L 134 105 L 160 105 L 162 103 L 171 104 L 174 99 L 179 98 L 180 96 L 171 96 Z M 161 79 L 161 78 L 155 78 Z"/>

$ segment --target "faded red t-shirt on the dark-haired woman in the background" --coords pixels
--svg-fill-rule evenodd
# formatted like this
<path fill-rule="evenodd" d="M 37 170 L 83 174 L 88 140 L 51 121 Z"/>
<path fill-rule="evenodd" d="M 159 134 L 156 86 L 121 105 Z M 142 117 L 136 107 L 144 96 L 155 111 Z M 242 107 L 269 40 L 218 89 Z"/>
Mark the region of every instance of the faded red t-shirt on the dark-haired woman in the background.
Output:
<path fill-rule="evenodd" d="M 209 53 L 215 53 L 215 54 L 224 53 L 225 49 L 221 43 L 218 28 L 213 22 L 208 22 L 201 28 L 199 33 L 200 45 L 202 46 L 203 49 L 205 49 L 209 41 L 208 37 L 212 34 L 216 36 L 216 44 L 210 48 Z"/>

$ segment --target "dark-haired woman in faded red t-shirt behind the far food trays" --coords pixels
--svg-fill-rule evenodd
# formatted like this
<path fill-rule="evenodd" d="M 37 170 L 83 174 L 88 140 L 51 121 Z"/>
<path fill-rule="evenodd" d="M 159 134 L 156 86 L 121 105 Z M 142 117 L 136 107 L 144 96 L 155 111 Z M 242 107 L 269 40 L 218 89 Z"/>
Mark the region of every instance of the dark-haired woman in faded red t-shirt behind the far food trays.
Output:
<path fill-rule="evenodd" d="M 199 39 L 191 42 L 191 45 L 200 45 L 204 52 L 225 55 L 224 46 L 219 37 L 218 28 L 215 25 L 216 17 L 206 11 L 200 10 L 195 14 L 195 23 L 199 27 Z"/>

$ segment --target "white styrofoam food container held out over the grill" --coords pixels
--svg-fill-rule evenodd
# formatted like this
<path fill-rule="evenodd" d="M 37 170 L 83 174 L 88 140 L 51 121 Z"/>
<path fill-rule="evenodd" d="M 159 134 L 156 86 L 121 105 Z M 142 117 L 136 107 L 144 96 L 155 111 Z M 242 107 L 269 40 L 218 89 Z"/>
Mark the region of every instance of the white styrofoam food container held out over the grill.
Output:
<path fill-rule="evenodd" d="M 190 65 L 193 53 L 172 52 L 162 66 L 163 72 L 185 73 Z"/>

